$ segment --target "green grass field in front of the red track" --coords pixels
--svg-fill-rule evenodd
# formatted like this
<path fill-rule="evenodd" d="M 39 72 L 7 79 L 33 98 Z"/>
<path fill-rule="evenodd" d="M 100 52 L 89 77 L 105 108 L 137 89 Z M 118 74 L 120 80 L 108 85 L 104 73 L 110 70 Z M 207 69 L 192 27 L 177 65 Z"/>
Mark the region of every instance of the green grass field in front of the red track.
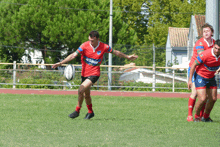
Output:
<path fill-rule="evenodd" d="M 70 119 L 77 96 L 0 94 L 3 147 L 220 146 L 220 103 L 213 123 L 187 122 L 188 99 L 93 96 L 95 117 Z"/>

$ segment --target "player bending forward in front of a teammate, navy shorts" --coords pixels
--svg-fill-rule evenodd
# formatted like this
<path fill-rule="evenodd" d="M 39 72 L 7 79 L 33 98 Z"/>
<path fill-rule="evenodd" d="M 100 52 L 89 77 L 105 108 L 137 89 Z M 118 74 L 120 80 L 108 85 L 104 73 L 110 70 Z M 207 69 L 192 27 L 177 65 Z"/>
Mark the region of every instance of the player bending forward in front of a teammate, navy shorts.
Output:
<path fill-rule="evenodd" d="M 213 122 L 213 120 L 210 118 L 210 113 L 215 102 L 217 101 L 217 84 L 215 80 L 215 73 L 219 66 L 220 40 L 216 40 L 213 49 L 200 53 L 191 66 L 188 89 L 192 88 L 192 77 L 195 72 L 195 87 L 198 98 L 198 101 L 195 104 L 195 122 Z M 206 101 L 207 104 L 205 111 L 201 118 L 200 111 Z"/>

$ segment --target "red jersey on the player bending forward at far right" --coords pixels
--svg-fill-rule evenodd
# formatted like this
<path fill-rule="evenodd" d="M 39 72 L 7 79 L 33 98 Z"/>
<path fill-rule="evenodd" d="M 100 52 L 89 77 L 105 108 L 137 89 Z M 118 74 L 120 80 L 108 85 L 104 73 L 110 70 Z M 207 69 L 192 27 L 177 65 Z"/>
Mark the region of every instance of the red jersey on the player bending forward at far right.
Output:
<path fill-rule="evenodd" d="M 203 78 L 211 79 L 220 66 L 220 56 L 216 57 L 214 49 L 206 50 L 199 54 L 195 62 L 199 65 L 196 68 L 196 73 Z"/>

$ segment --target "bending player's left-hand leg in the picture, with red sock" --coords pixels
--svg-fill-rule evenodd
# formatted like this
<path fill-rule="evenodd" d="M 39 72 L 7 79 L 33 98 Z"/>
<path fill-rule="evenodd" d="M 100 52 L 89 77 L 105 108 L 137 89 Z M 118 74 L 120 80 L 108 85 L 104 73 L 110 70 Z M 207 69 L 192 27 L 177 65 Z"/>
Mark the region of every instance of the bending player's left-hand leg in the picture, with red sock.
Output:
<path fill-rule="evenodd" d="M 195 104 L 195 120 L 194 121 L 200 121 L 200 111 L 202 110 L 202 107 L 204 103 L 207 100 L 207 91 L 206 89 L 196 89 L 197 91 L 197 101 Z"/>

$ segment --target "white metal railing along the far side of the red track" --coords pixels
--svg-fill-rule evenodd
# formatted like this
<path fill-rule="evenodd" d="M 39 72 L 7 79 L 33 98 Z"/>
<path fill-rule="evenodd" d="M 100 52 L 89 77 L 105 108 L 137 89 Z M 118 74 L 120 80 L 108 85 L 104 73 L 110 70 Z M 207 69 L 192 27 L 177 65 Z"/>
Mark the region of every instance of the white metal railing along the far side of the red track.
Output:
<path fill-rule="evenodd" d="M 79 86 L 80 84 L 74 84 L 74 82 L 67 82 L 65 80 L 62 81 L 61 84 L 34 84 L 34 83 L 29 83 L 29 84 L 24 84 L 24 83 L 19 83 L 18 82 L 18 79 L 17 79 L 17 73 L 18 72 L 31 72 L 31 71 L 35 71 L 35 72 L 45 72 L 45 71 L 50 71 L 50 72 L 59 72 L 58 70 L 42 70 L 42 69 L 37 69 L 37 70 L 30 70 L 30 69 L 18 69 L 19 66 L 52 66 L 52 64 L 24 64 L 24 63 L 16 63 L 15 61 L 13 63 L 0 63 L 0 65 L 12 65 L 12 69 L 0 69 L 0 71 L 12 71 L 12 83 L 4 83 L 4 82 L 0 82 L 0 85 L 12 85 L 12 88 L 16 88 L 16 86 L 18 85 L 29 85 L 29 86 L 33 86 L 33 85 L 41 85 L 41 86 L 54 86 L 54 87 L 59 87 L 59 86 L 62 86 L 62 87 L 77 87 Z M 67 64 L 66 64 L 67 65 Z M 66 66 L 64 65 L 64 66 Z M 81 66 L 81 65 L 74 65 L 74 66 Z M 108 67 L 108 65 L 101 65 L 100 67 Z M 126 73 L 131 73 L 131 74 L 134 74 L 136 73 L 139 78 L 140 78 L 140 75 L 144 75 L 144 74 L 148 74 L 148 77 L 143 77 L 143 79 L 150 81 L 150 83 L 152 83 L 152 86 L 148 86 L 148 87 L 145 87 L 145 86 L 123 86 L 123 85 L 110 85 L 111 88 L 151 88 L 152 89 L 152 92 L 156 91 L 157 88 L 164 88 L 164 89 L 172 89 L 172 92 L 175 92 L 175 89 L 187 89 L 187 87 L 179 87 L 179 88 L 175 88 L 175 83 L 178 83 L 178 82 L 187 82 L 187 73 L 176 73 L 175 71 L 178 70 L 177 68 L 171 68 L 171 67 L 156 67 L 156 66 L 153 66 L 153 67 L 150 67 L 150 66 L 118 66 L 118 65 L 112 65 L 111 67 L 113 68 L 135 68 L 135 69 L 142 69 L 142 70 L 132 70 L 130 72 L 126 72 L 124 70 L 122 71 L 112 71 L 111 73 L 112 74 L 126 74 Z M 163 73 L 163 72 L 158 72 L 156 71 L 156 69 L 170 69 L 172 70 L 172 73 Z M 183 68 L 185 69 L 185 68 Z M 77 71 L 78 74 L 80 74 L 81 71 Z M 102 74 L 107 74 L 108 71 L 101 71 Z M 178 75 L 183 75 L 183 77 L 180 77 Z M 100 77 L 99 80 L 101 80 L 102 77 Z M 128 79 L 127 80 L 124 80 L 124 81 L 129 81 L 129 77 L 128 76 Z M 150 79 L 150 80 L 149 80 Z M 157 87 L 156 86 L 156 83 L 157 81 L 159 81 L 160 79 L 164 79 L 164 81 L 167 81 L 169 79 L 169 83 L 172 83 L 172 87 Z M 137 79 L 136 79 L 137 80 Z M 139 79 L 140 81 L 141 79 Z M 74 80 L 73 80 L 74 81 Z M 161 81 L 161 80 L 160 80 Z M 107 84 L 108 82 L 106 82 Z M 96 85 L 94 85 L 95 87 L 97 88 L 102 88 L 102 87 L 105 87 L 105 88 L 108 88 L 109 85 L 100 85 L 100 82 L 98 81 L 96 83 Z"/>

